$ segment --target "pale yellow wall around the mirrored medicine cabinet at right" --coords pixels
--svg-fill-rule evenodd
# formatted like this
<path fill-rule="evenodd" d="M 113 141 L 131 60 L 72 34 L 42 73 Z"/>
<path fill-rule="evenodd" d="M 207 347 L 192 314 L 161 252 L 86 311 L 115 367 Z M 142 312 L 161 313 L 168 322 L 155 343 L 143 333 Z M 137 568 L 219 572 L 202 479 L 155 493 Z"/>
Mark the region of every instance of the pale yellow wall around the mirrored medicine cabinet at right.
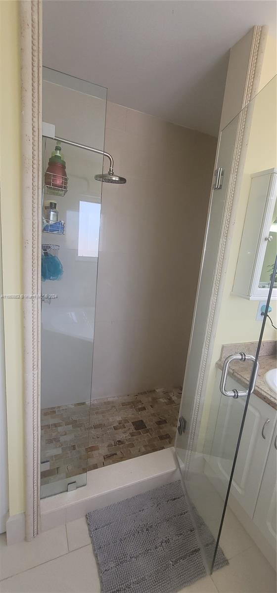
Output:
<path fill-rule="evenodd" d="M 262 325 L 256 321 L 258 302 L 232 294 L 235 266 L 243 232 L 244 218 L 250 192 L 251 175 L 276 167 L 276 82 L 272 81 L 254 100 L 253 119 L 241 183 L 240 200 L 235 221 L 233 244 L 225 282 L 223 306 L 218 322 L 217 338 L 225 343 L 257 340 Z M 276 311 L 276 301 L 272 301 Z M 276 339 L 276 330 L 266 324 L 265 340 Z M 224 342 L 223 342 L 224 343 Z"/>

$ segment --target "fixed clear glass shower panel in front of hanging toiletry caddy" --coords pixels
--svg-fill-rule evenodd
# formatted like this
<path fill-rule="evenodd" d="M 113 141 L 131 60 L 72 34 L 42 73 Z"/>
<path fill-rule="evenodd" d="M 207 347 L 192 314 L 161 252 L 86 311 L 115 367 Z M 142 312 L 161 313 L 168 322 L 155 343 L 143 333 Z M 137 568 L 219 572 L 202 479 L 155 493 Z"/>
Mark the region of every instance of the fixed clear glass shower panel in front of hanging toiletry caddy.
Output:
<path fill-rule="evenodd" d="M 103 150 L 106 89 L 49 69 L 43 78 L 55 136 Z M 43 152 L 42 498 L 87 481 L 103 171 L 103 155 L 65 142 L 43 137 Z"/>

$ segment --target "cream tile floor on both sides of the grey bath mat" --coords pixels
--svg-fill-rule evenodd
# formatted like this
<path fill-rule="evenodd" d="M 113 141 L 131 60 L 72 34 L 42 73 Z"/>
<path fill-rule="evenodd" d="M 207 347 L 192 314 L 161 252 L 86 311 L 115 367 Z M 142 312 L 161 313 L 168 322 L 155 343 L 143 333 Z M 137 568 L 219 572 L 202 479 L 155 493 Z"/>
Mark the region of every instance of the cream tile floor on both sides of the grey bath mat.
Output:
<path fill-rule="evenodd" d="M 180 593 L 276 593 L 276 572 L 233 513 L 227 512 L 229 525 L 221 546 L 228 556 L 229 565 L 196 581 Z M 231 531 L 230 524 L 233 524 Z M 13 546 L 7 546 L 5 534 L 1 534 L 0 557 L 1 593 L 101 591 L 85 517 Z"/>

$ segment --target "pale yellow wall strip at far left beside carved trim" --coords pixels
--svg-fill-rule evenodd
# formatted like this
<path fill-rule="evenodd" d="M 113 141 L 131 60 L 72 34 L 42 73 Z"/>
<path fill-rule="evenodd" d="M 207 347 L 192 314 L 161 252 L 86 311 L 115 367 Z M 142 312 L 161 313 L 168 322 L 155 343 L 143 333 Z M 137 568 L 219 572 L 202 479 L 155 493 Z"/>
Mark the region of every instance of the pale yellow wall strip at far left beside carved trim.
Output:
<path fill-rule="evenodd" d="M 20 37 L 18 2 L 0 2 L 0 183 L 4 294 L 22 292 Z M 4 299 L 9 514 L 24 511 L 22 302 Z"/>

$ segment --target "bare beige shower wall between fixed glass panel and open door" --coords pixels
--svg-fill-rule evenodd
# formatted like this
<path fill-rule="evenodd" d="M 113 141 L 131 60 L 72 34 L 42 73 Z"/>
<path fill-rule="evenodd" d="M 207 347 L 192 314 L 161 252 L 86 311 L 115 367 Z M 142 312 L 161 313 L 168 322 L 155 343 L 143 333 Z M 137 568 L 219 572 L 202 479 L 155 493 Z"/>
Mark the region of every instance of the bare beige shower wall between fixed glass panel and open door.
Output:
<path fill-rule="evenodd" d="M 108 103 L 93 397 L 182 384 L 216 139 Z"/>

